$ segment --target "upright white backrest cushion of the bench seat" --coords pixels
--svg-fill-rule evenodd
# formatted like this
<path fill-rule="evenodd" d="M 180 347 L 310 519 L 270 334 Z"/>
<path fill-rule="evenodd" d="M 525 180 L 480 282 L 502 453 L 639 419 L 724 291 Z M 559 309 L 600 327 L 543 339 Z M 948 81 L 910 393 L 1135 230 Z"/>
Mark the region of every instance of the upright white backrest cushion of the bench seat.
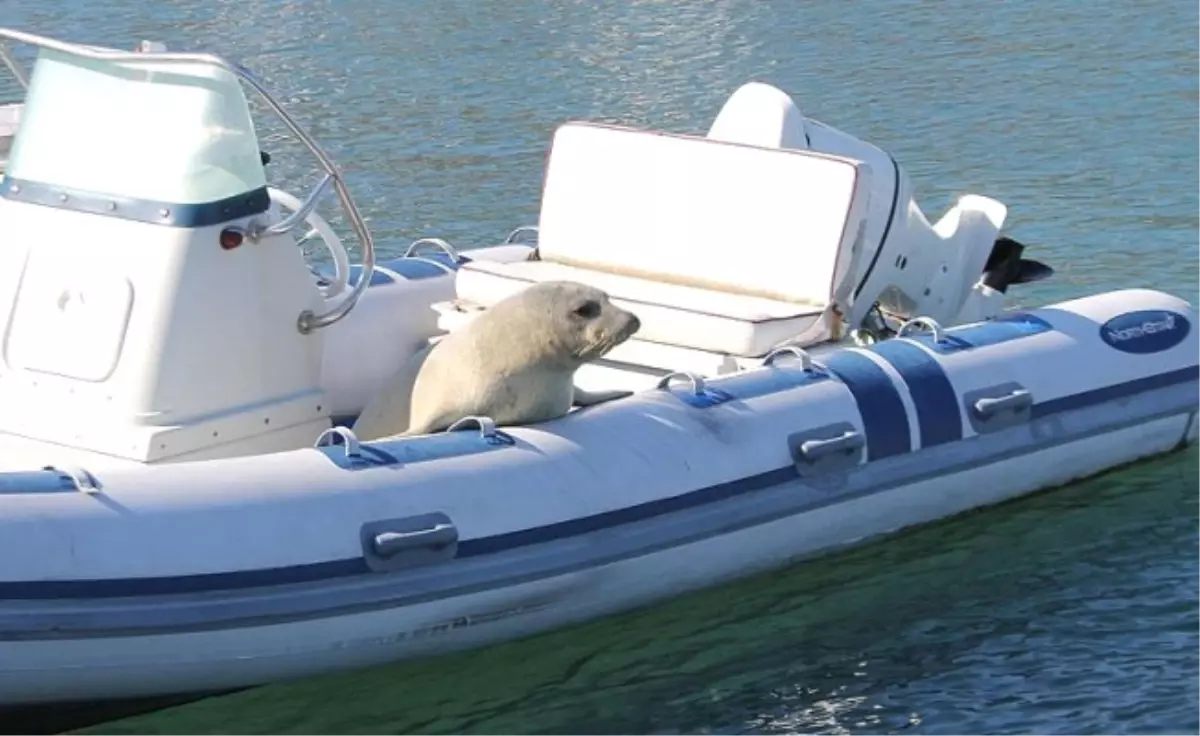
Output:
<path fill-rule="evenodd" d="M 853 279 L 860 161 L 592 122 L 558 127 L 541 259 L 797 304 Z"/>

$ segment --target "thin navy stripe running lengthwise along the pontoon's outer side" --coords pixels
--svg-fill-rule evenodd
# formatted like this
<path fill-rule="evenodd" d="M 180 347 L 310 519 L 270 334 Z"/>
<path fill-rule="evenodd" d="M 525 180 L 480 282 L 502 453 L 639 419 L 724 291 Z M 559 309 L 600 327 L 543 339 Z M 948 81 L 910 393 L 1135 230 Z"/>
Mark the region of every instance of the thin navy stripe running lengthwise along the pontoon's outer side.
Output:
<path fill-rule="evenodd" d="M 865 360 L 864 358 L 860 358 Z M 877 367 L 877 366 L 876 366 Z M 845 366 L 842 366 L 845 370 Z M 882 372 L 882 371 L 881 371 Z M 1148 376 L 1126 383 L 1085 391 L 1074 396 L 1064 396 L 1045 401 L 1033 407 L 1036 418 L 1055 413 L 1087 408 L 1133 396 L 1142 391 L 1165 388 L 1200 379 L 1200 366 L 1190 366 L 1169 373 Z M 907 429 L 907 419 L 905 425 Z M 870 441 L 868 441 L 870 442 Z M 740 493 L 766 490 L 796 480 L 796 468 L 787 466 L 750 478 L 743 478 L 715 486 L 709 486 L 674 496 L 643 503 L 640 505 L 614 509 L 582 519 L 571 519 L 528 529 L 508 532 L 493 537 L 466 539 L 458 543 L 458 557 L 476 557 L 504 552 L 522 546 L 553 541 L 576 534 L 583 534 L 602 528 L 643 521 L 658 515 L 679 511 L 688 508 L 731 498 Z M 448 564 L 454 564 L 448 563 Z M 232 573 L 210 573 L 202 575 L 181 575 L 173 578 L 120 578 L 110 580 L 37 580 L 19 582 L 0 582 L 0 600 L 46 600 L 55 598 L 120 598 L 136 596 L 200 593 L 239 588 L 268 587 L 296 582 L 316 582 L 354 575 L 378 575 L 371 573 L 366 563 L 359 558 L 332 560 L 311 564 L 299 564 L 281 568 L 257 570 L 238 570 Z"/>

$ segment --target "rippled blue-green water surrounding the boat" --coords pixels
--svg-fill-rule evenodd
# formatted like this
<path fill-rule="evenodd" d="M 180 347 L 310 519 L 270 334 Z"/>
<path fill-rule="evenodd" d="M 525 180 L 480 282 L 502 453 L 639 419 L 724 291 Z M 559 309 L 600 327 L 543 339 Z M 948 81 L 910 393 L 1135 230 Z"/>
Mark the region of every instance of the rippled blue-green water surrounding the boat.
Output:
<path fill-rule="evenodd" d="M 0 23 L 76 41 L 155 38 L 245 61 L 343 164 L 385 255 L 425 235 L 482 246 L 534 222 L 546 143 L 566 118 L 703 132 L 757 78 L 892 150 L 931 216 L 968 191 L 1006 202 L 1008 232 L 1057 269 L 1018 303 L 1200 292 L 1195 2 L 0 11 Z M 314 180 L 277 125 L 263 139 L 287 189 Z M 1200 732 L 1198 457 L 583 628 L 94 732 Z"/>

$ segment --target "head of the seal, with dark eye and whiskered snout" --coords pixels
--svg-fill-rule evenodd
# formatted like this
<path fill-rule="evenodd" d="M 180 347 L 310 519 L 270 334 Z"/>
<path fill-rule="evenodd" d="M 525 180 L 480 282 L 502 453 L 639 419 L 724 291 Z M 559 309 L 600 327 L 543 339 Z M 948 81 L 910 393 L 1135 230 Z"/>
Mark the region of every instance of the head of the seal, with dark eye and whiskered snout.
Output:
<path fill-rule="evenodd" d="M 540 353 L 540 359 L 571 367 L 600 358 L 642 327 L 607 293 L 575 281 L 535 283 L 488 311 L 504 319 L 514 341 Z"/>

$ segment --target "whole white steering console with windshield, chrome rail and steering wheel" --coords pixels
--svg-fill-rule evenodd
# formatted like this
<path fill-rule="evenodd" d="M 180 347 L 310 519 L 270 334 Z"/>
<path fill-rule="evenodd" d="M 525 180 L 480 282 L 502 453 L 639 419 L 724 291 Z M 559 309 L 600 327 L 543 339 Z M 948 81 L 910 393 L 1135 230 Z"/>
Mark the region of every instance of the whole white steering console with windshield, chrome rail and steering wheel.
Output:
<path fill-rule="evenodd" d="M 40 49 L 0 184 L 0 460 L 157 462 L 311 444 L 330 425 L 323 328 L 350 311 L 374 265 L 332 162 L 218 56 L 8 30 L 0 41 Z M 304 202 L 268 186 L 242 83 L 324 169 Z M 330 184 L 364 244 L 353 287 L 341 241 L 313 211 Z M 296 247 L 301 222 L 332 253 L 329 283 Z"/>

